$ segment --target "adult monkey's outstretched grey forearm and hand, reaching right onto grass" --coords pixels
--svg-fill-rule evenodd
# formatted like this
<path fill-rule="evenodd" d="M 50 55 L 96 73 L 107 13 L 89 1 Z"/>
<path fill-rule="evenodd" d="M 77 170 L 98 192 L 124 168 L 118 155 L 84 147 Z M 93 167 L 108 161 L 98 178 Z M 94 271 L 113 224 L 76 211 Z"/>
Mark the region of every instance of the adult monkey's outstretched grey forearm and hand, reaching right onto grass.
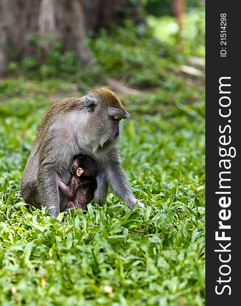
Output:
<path fill-rule="evenodd" d="M 114 164 L 107 169 L 107 180 L 113 191 L 120 197 L 130 209 L 138 202 L 140 208 L 144 207 L 134 196 L 128 183 L 125 171 L 119 164 Z"/>

